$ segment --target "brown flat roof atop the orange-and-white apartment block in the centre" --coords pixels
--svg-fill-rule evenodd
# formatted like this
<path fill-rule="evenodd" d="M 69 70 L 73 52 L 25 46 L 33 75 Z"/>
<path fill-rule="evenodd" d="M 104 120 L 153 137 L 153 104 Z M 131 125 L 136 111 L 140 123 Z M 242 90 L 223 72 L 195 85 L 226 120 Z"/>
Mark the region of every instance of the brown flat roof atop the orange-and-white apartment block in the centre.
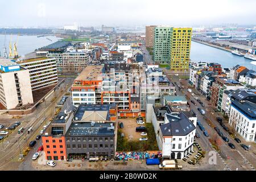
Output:
<path fill-rule="evenodd" d="M 88 65 L 75 80 L 101 80 L 102 68 L 102 65 Z"/>

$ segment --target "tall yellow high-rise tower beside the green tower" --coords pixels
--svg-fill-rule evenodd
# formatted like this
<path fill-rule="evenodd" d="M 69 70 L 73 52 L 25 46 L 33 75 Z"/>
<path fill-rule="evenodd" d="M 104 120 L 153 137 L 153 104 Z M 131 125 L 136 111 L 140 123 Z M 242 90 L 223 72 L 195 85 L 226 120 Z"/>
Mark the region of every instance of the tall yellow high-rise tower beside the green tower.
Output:
<path fill-rule="evenodd" d="M 170 67 L 173 72 L 188 72 L 192 28 L 171 28 Z"/>

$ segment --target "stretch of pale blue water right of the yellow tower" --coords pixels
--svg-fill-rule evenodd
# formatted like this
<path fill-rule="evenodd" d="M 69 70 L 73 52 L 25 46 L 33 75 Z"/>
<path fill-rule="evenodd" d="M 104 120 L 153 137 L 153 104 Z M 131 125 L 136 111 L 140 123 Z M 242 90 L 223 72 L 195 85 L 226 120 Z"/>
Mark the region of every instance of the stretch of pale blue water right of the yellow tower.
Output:
<path fill-rule="evenodd" d="M 190 59 L 195 62 L 205 61 L 208 63 L 218 63 L 221 64 L 222 68 L 232 68 L 240 64 L 256 71 L 256 66 L 250 63 L 253 60 L 245 59 L 243 56 L 233 55 L 231 52 L 222 51 L 221 49 L 197 42 L 191 42 Z"/>

